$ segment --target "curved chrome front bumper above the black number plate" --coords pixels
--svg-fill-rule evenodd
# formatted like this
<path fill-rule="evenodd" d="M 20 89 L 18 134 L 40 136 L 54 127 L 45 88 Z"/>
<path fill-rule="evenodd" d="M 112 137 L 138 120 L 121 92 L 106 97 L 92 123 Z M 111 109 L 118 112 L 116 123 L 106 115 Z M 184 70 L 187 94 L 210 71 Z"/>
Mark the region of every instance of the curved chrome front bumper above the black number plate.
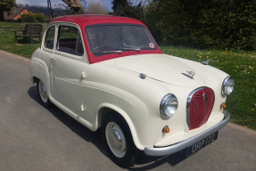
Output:
<path fill-rule="evenodd" d="M 230 115 L 227 112 L 227 110 L 224 110 L 223 114 L 224 114 L 225 118 L 221 122 L 219 122 L 218 125 L 213 126 L 210 129 L 207 129 L 206 131 L 202 132 L 201 134 L 197 134 L 194 137 L 187 139 L 184 142 L 178 142 L 174 145 L 170 145 L 167 147 L 160 147 L 160 148 L 145 147 L 145 154 L 148 156 L 166 156 L 166 155 L 173 154 L 175 152 L 184 150 L 185 148 L 194 145 L 194 143 L 196 143 L 196 142 L 200 142 L 202 139 L 217 132 L 220 128 L 227 125 Z"/>

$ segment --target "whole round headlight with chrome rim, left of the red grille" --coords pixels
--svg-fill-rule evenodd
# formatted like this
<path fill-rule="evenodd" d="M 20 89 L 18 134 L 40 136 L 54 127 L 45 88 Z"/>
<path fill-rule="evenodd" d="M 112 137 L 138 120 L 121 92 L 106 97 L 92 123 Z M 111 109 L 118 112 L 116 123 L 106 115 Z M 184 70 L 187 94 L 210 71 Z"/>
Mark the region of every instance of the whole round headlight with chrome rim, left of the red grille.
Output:
<path fill-rule="evenodd" d="M 174 94 L 165 95 L 160 103 L 160 114 L 162 118 L 170 118 L 178 109 L 178 99 Z"/>

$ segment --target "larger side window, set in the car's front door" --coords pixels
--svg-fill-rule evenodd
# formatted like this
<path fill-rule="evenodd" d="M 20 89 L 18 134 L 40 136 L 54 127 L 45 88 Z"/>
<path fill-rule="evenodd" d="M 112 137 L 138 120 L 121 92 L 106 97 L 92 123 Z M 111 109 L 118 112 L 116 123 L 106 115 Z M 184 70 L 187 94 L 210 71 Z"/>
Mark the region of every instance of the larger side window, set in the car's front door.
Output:
<path fill-rule="evenodd" d="M 78 56 L 84 54 L 82 39 L 78 28 L 69 26 L 59 27 L 57 50 Z"/>

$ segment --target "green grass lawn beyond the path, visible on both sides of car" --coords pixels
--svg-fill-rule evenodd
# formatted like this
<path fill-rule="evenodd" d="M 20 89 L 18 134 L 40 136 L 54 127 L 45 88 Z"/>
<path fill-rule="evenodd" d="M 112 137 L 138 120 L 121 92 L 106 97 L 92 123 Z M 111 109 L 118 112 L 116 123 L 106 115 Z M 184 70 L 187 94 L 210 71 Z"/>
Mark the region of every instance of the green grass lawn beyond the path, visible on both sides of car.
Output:
<path fill-rule="evenodd" d="M 15 44 L 13 30 L 24 23 L 0 22 L 0 49 L 30 58 L 39 44 Z M 46 24 L 44 24 L 44 27 Z M 256 130 L 256 53 L 244 51 L 196 50 L 186 47 L 162 46 L 163 53 L 193 61 L 210 61 L 210 65 L 235 78 L 235 91 L 227 97 L 231 121 Z"/>

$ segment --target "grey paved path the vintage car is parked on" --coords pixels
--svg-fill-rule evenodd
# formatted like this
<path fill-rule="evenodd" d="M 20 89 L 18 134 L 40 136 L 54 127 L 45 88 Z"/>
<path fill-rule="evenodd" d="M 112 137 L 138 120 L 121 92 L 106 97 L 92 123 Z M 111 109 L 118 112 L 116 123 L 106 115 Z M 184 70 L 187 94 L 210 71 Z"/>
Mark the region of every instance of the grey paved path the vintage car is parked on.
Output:
<path fill-rule="evenodd" d="M 0 51 L 0 170 L 122 170 L 108 158 L 101 133 L 41 106 L 29 60 Z M 219 139 L 190 158 L 143 157 L 131 170 L 256 170 L 256 132 L 228 124 Z"/>

